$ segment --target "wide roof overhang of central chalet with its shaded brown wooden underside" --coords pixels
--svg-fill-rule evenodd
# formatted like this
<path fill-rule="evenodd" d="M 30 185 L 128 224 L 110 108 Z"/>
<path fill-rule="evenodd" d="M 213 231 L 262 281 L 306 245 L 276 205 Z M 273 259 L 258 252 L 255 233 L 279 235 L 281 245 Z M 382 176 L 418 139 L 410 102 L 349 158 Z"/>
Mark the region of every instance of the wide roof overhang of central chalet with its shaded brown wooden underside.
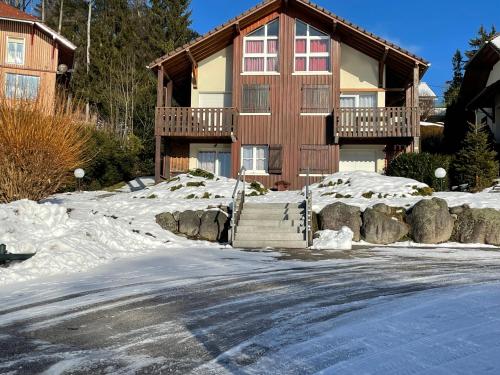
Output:
<path fill-rule="evenodd" d="M 338 17 L 309 0 L 266 0 L 240 16 L 209 31 L 207 34 L 156 59 L 148 65 L 148 68 L 157 70 L 160 66 L 163 66 L 166 74 L 171 79 L 188 79 L 191 74 L 189 55 L 194 57 L 196 61 L 201 61 L 231 45 L 235 35 L 240 30 L 252 25 L 266 15 L 276 11 L 279 12 L 283 7 L 292 5 L 296 6 L 301 12 L 314 13 L 325 24 L 331 25 L 331 29 L 335 25 L 335 30 L 340 35 L 343 43 L 364 52 L 370 57 L 379 60 L 385 58 L 386 65 L 400 73 L 402 79 L 410 79 L 415 66 L 418 66 L 420 77 L 422 77 L 430 66 L 423 58 Z"/>

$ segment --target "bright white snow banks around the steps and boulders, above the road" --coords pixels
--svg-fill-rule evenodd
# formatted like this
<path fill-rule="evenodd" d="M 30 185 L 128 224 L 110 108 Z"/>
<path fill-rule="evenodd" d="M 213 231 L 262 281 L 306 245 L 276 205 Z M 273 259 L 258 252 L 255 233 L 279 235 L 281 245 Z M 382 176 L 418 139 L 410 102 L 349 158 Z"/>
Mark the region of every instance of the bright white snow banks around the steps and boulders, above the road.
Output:
<path fill-rule="evenodd" d="M 120 258 L 145 256 L 172 248 L 228 248 L 191 241 L 161 229 L 155 216 L 163 212 L 208 210 L 232 204 L 235 180 L 180 175 L 152 185 L 151 178 L 131 181 L 116 192 L 78 192 L 54 195 L 41 203 L 17 201 L 0 205 L 0 243 L 12 253 L 36 253 L 31 259 L 0 268 L 0 285 L 56 274 L 86 272 Z M 359 206 L 377 203 L 410 208 L 422 197 L 413 195 L 425 184 L 368 172 L 340 172 L 313 184 L 313 209 L 334 202 Z M 252 193 L 247 183 L 247 194 Z M 138 190 L 141 189 L 141 190 Z M 249 202 L 301 202 L 301 191 L 269 192 L 247 197 Z M 339 197 L 343 198 L 339 198 Z M 348 196 L 350 196 L 348 198 Z M 499 195 L 484 191 L 436 193 L 450 206 L 500 210 Z M 344 233 L 345 234 L 345 233 Z M 324 233 L 316 246 L 347 247 L 342 235 Z M 413 246 L 402 243 L 398 246 Z M 460 245 L 464 246 L 464 245 Z M 469 245 L 471 246 L 471 245 Z M 472 245 L 474 246 L 474 245 Z"/>

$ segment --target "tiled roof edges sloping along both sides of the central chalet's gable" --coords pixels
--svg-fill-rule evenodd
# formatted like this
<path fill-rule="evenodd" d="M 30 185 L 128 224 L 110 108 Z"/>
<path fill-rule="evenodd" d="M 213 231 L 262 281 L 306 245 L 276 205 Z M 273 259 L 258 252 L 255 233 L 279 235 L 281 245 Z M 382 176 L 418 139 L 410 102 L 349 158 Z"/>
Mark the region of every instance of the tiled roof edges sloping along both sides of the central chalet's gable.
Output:
<path fill-rule="evenodd" d="M 241 15 L 235 17 L 235 18 L 232 18 L 230 19 L 228 22 L 216 27 L 215 29 L 209 31 L 208 33 L 206 33 L 205 35 L 199 37 L 199 38 L 196 38 L 194 39 L 193 41 L 191 41 L 190 43 L 187 43 L 185 44 L 184 46 L 182 47 L 179 47 L 177 48 L 176 50 L 172 51 L 172 52 L 169 52 L 167 53 L 166 55 L 156 59 L 155 61 L 153 61 L 148 67 L 149 68 L 154 68 L 160 64 L 162 64 L 163 62 L 169 60 L 170 58 L 178 55 L 179 53 L 189 49 L 190 47 L 193 47 L 195 45 L 198 45 L 200 43 L 203 43 L 204 41 L 206 41 L 207 39 L 209 39 L 211 36 L 215 35 L 215 34 L 218 34 L 220 32 L 222 32 L 223 30 L 227 29 L 228 27 L 238 23 L 239 21 L 243 20 L 243 19 L 246 19 L 247 17 L 251 16 L 252 14 L 256 13 L 257 11 L 260 11 L 262 9 L 265 9 L 266 7 L 268 6 L 271 6 L 271 5 L 281 5 L 281 2 L 283 0 L 264 0 L 262 1 L 260 4 L 254 6 L 253 8 L 247 10 L 246 12 L 242 13 Z M 347 29 L 350 29 L 352 32 L 354 33 L 357 33 L 357 34 L 360 34 L 361 36 L 365 37 L 365 38 L 369 38 L 371 39 L 374 43 L 379 43 L 381 45 L 383 45 L 384 47 L 387 47 L 389 49 L 392 49 L 402 55 L 404 55 L 405 57 L 409 58 L 409 59 L 412 59 L 415 61 L 415 63 L 419 63 L 421 65 L 424 66 L 425 69 L 423 69 L 421 72 L 422 74 L 425 72 L 426 68 L 429 66 L 429 62 L 424 60 L 423 58 L 411 53 L 410 51 L 408 50 L 405 50 L 397 45 L 395 45 L 394 43 L 392 42 L 389 42 L 381 37 L 378 37 L 376 36 L 375 34 L 369 32 L 369 31 L 366 31 L 365 29 L 353 24 L 352 22 L 349 22 L 347 21 L 346 19 L 344 18 L 341 18 L 337 15 L 335 15 L 334 13 L 330 12 L 329 10 L 323 8 L 323 7 L 320 7 L 314 3 L 312 3 L 311 1 L 309 0 L 294 0 L 296 3 L 301 3 L 313 10 L 316 10 L 317 12 L 320 12 L 330 18 L 332 18 L 333 20 L 337 21 L 341 26 L 347 28 Z"/>

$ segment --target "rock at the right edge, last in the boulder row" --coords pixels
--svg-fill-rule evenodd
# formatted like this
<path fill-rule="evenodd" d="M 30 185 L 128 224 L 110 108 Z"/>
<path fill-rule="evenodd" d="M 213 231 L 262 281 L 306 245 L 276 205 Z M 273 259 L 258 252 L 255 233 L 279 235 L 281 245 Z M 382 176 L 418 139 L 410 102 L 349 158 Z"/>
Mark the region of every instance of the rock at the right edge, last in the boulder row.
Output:
<path fill-rule="evenodd" d="M 500 246 L 500 211 L 465 208 L 457 213 L 453 241 Z"/>

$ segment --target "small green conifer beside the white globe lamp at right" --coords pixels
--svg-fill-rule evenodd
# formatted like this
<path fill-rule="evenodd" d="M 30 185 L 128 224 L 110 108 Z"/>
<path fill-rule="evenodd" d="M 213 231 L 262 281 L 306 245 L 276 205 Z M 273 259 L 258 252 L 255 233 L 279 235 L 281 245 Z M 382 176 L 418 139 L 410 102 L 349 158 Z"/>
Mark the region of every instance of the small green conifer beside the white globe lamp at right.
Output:
<path fill-rule="evenodd" d="M 471 191 L 480 191 L 498 177 L 497 153 L 492 150 L 483 125 L 470 124 L 470 129 L 452 164 L 452 177 L 457 184 L 468 184 Z"/>

